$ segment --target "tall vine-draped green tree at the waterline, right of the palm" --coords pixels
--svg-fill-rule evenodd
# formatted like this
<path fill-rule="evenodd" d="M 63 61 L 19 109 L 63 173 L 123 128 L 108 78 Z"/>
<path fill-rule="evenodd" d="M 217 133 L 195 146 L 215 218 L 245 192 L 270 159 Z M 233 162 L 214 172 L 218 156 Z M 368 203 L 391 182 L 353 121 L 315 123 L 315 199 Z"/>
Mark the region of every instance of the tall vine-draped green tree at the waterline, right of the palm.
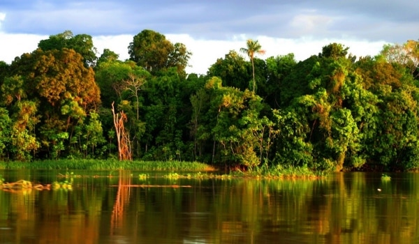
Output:
<path fill-rule="evenodd" d="M 339 171 L 360 150 L 358 124 L 346 102 L 355 77 L 353 60 L 346 50 L 332 47 L 341 45 L 328 45 L 325 54 L 297 63 L 284 79 L 284 110 L 275 113 L 276 162 Z"/>

